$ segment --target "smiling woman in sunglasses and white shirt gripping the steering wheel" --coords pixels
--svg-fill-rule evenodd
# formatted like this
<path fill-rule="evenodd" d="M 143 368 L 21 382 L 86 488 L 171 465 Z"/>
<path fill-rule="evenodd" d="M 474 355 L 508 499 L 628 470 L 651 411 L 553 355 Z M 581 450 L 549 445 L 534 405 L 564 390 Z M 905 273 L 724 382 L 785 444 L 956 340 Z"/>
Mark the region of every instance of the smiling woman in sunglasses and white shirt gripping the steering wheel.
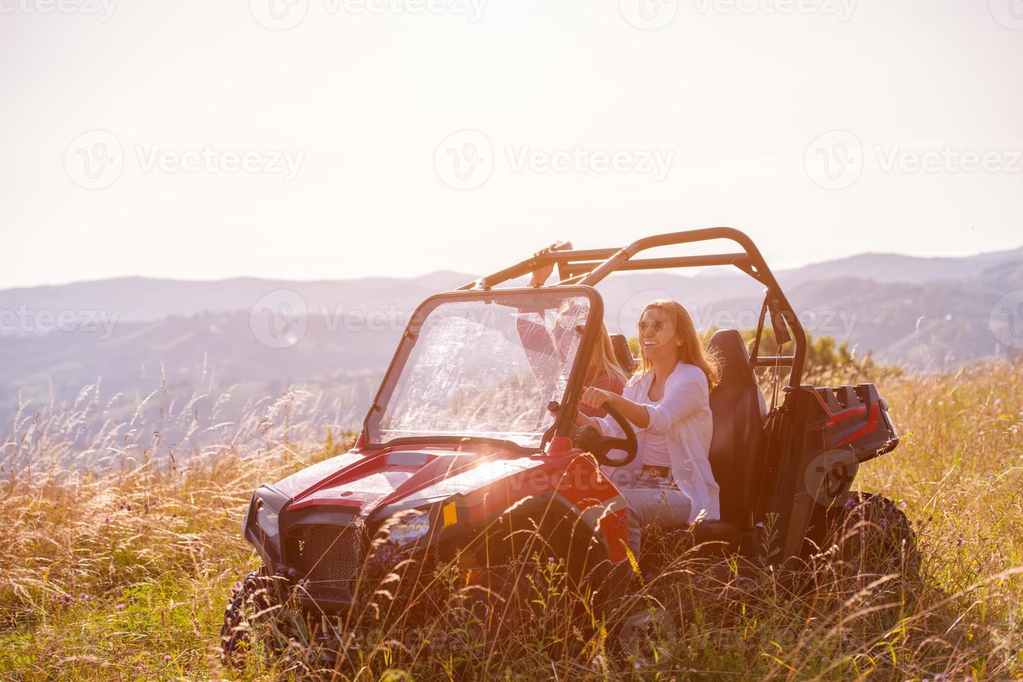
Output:
<path fill-rule="evenodd" d="M 719 517 L 718 485 L 708 458 L 717 362 L 704 351 L 688 312 L 674 301 L 648 304 L 638 331 L 639 367 L 622 395 L 586 389 L 575 420 L 622 438 L 611 417 L 582 412 L 611 405 L 635 428 L 642 468 L 633 487 L 622 491 L 633 554 L 639 552 L 642 529 L 651 524 L 677 527 Z"/>

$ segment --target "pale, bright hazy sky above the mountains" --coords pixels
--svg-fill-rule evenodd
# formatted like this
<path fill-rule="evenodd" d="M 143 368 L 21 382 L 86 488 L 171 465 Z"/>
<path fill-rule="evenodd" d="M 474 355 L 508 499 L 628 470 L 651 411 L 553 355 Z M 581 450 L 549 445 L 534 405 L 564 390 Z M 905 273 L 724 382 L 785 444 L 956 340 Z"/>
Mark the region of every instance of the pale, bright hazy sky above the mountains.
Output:
<path fill-rule="evenodd" d="M 712 225 L 777 268 L 1023 243 L 1021 0 L 0 12 L 0 287 L 483 272 Z"/>

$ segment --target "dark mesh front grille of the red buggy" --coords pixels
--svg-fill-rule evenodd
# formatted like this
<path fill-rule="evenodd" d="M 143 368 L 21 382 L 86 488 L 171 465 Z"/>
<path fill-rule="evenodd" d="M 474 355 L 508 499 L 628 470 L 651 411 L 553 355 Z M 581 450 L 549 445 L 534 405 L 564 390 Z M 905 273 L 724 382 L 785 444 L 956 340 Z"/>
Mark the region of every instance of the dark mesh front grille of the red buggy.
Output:
<path fill-rule="evenodd" d="M 339 583 L 358 577 L 363 553 L 363 534 L 358 527 L 299 526 L 288 535 L 296 569 L 311 583 Z"/>

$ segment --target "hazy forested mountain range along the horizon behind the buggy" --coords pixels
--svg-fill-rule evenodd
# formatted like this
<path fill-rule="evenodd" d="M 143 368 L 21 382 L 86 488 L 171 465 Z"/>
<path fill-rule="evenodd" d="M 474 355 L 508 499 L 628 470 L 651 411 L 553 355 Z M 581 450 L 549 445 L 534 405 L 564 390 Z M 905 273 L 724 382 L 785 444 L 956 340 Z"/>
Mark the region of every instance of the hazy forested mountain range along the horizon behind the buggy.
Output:
<path fill-rule="evenodd" d="M 862 254 L 775 274 L 811 334 L 911 369 L 1016 352 L 996 332 L 1023 329 L 1023 319 L 992 310 L 1023 289 L 1023 247 L 962 258 Z M 0 290 L 0 416 L 19 400 L 73 399 L 98 379 L 105 395 L 130 397 L 127 406 L 160 385 L 180 395 L 233 387 L 236 402 L 304 385 L 336 396 L 339 418 L 354 423 L 415 307 L 476 276 L 129 277 Z M 701 327 L 755 326 L 762 303 L 761 287 L 738 271 L 622 273 L 598 289 L 612 331 L 633 329 L 655 298 L 681 302 Z M 277 343 L 279 330 L 263 327 L 273 322 L 268 311 L 295 320 L 301 338 Z"/>

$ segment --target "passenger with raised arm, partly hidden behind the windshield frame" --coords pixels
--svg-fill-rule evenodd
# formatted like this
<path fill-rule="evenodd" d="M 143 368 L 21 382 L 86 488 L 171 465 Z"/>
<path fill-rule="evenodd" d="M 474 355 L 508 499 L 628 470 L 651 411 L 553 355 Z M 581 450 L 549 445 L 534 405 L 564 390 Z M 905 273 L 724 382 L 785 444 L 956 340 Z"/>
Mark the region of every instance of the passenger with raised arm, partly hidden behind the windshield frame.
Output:
<path fill-rule="evenodd" d="M 553 271 L 554 266 L 549 265 L 541 268 L 533 273 L 530 279 L 530 286 L 543 286 L 544 282 L 550 276 Z M 523 311 L 525 312 L 525 311 Z M 542 311 L 534 311 L 542 314 Z M 572 315 L 569 310 L 559 310 L 560 317 L 562 319 L 572 319 Z M 574 329 L 574 323 L 570 325 Z M 554 333 L 551 334 L 547 331 L 545 325 L 538 322 L 530 322 L 526 317 L 520 317 L 518 322 L 519 336 L 522 339 L 523 347 L 531 352 L 534 357 L 530 358 L 530 362 L 534 364 L 534 367 L 539 364 L 543 364 L 545 358 L 553 358 L 565 355 L 565 349 L 562 347 L 567 345 L 569 339 L 575 336 L 572 332 L 566 333 L 560 326 L 555 326 Z M 535 357 L 539 356 L 539 358 Z M 560 368 L 559 368 L 560 369 Z M 542 372 L 545 376 L 551 375 L 550 372 Z M 558 371 L 553 374 L 557 375 Z M 542 379 L 541 379 L 542 380 Z M 608 334 L 608 327 L 601 322 L 601 329 L 598 331 L 598 336 L 596 339 L 596 345 L 593 348 L 593 354 L 589 358 L 589 365 L 586 368 L 586 376 L 583 378 L 583 390 L 587 388 L 599 389 L 602 391 L 607 391 L 615 395 L 621 395 L 622 390 L 625 388 L 627 378 L 625 376 L 625 370 L 620 364 L 618 364 L 618 359 L 615 356 L 615 347 L 611 344 L 611 336 Z M 599 406 L 588 406 L 580 405 L 579 410 L 591 417 L 603 417 L 608 413 Z"/>

